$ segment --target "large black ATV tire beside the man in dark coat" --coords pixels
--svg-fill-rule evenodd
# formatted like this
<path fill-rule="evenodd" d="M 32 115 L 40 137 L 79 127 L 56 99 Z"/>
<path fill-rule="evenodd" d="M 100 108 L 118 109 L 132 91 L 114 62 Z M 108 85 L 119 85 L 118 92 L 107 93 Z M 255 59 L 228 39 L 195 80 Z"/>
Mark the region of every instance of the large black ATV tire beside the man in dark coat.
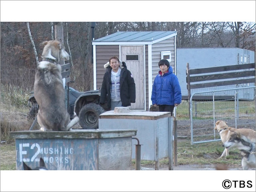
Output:
<path fill-rule="evenodd" d="M 99 116 L 104 109 L 95 103 L 89 103 L 83 106 L 79 112 L 79 122 L 83 129 L 98 129 Z"/>

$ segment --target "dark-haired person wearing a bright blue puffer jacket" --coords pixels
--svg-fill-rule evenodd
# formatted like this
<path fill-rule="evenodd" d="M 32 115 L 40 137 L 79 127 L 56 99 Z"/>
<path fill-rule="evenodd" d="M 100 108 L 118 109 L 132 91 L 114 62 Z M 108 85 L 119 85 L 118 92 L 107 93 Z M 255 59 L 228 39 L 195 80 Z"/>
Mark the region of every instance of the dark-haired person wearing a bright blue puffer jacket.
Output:
<path fill-rule="evenodd" d="M 160 71 L 152 88 L 152 105 L 159 106 L 161 112 L 173 112 L 174 106 L 181 103 L 181 90 L 178 78 L 172 73 L 172 67 L 166 59 L 158 62 Z"/>

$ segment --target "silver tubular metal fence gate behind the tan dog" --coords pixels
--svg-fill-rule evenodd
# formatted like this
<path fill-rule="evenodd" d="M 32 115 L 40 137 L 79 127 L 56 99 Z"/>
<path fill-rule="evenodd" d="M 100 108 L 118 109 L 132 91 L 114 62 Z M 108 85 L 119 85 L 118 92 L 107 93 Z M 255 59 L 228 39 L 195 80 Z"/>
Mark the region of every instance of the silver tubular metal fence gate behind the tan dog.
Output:
<path fill-rule="evenodd" d="M 218 97 L 219 95 L 228 97 Z M 247 95 L 249 100 L 244 100 Z M 194 98 L 208 98 L 194 99 Z M 191 144 L 219 141 L 215 122 L 224 120 L 234 128 L 252 128 L 256 125 L 255 86 L 194 92 L 190 97 Z"/>

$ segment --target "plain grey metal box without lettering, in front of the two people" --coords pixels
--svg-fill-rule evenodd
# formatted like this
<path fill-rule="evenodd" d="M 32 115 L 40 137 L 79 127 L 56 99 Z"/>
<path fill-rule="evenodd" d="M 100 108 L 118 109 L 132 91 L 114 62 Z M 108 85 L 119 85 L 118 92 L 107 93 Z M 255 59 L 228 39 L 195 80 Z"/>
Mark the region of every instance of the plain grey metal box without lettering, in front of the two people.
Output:
<path fill-rule="evenodd" d="M 137 130 L 136 138 L 141 144 L 141 159 L 158 161 L 160 158 L 172 158 L 173 119 L 170 112 L 115 113 L 107 111 L 100 114 L 99 130 Z M 136 140 L 132 140 L 132 158 L 135 158 Z M 170 150 L 170 153 L 169 153 Z"/>

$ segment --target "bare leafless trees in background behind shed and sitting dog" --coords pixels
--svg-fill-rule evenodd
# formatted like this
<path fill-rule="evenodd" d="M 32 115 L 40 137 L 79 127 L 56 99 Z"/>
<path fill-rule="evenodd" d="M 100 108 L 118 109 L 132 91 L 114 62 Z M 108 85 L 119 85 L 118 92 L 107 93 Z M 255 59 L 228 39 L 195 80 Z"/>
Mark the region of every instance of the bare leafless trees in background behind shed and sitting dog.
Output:
<path fill-rule="evenodd" d="M 40 43 L 52 40 L 54 22 L 30 22 L 38 53 Z M 255 51 L 255 22 L 95 22 L 94 39 L 117 31 L 177 31 L 177 48 L 238 47 Z M 62 22 L 64 44 L 70 49 L 72 87 L 92 90 L 92 23 Z M 52 30 L 53 29 L 53 30 Z M 68 38 L 67 38 L 68 37 Z M 67 44 L 68 39 L 68 44 Z M 67 48 L 69 46 L 69 49 Z M 1 22 L 1 84 L 32 91 L 36 59 L 26 22 Z"/>

